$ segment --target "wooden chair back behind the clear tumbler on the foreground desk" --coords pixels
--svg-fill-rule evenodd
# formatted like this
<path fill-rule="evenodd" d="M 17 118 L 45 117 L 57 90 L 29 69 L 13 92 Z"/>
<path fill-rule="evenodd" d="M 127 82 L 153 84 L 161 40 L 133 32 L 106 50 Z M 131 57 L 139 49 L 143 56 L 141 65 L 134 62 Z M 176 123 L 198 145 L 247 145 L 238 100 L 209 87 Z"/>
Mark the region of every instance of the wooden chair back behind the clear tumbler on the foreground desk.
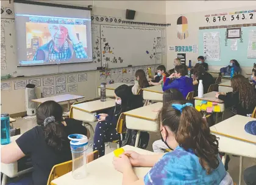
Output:
<path fill-rule="evenodd" d="M 93 160 L 96 160 L 99 158 L 99 151 L 95 150 L 94 152 L 88 153 L 87 155 L 87 163 L 90 163 Z M 72 160 L 66 161 L 64 163 L 56 164 L 54 167 L 52 167 L 52 170 L 50 172 L 47 185 L 51 184 L 52 180 L 55 180 L 55 178 L 61 177 L 62 175 L 65 175 L 68 172 L 72 171 Z"/>

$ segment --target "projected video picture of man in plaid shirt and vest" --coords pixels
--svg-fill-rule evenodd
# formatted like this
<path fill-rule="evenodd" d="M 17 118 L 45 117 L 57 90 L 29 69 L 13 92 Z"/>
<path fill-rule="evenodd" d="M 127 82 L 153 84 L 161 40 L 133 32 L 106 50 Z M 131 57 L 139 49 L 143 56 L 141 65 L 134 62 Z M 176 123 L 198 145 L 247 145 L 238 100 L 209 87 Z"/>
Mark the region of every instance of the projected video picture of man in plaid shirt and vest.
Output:
<path fill-rule="evenodd" d="M 82 19 L 30 17 L 29 20 L 27 61 L 68 62 L 88 58 L 87 28 Z"/>

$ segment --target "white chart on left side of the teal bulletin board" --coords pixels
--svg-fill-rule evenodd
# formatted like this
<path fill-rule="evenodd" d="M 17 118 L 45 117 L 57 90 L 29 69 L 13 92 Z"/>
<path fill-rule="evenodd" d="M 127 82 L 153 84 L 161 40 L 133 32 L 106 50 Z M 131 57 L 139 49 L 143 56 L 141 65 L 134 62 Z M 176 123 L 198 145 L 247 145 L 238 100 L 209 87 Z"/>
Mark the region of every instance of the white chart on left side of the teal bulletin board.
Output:
<path fill-rule="evenodd" d="M 205 59 L 210 61 L 219 61 L 221 59 L 219 38 L 219 32 L 205 32 L 203 34 Z"/>

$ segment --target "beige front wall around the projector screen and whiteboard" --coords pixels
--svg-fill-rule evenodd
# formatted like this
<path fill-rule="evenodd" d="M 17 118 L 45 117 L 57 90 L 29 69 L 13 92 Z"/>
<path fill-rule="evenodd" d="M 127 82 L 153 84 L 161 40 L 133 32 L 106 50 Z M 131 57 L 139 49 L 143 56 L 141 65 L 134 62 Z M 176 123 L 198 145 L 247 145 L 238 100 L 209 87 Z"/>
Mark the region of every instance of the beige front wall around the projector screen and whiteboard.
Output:
<path fill-rule="evenodd" d="M 46 1 L 42 1 L 46 2 Z M 126 9 L 136 10 L 135 20 L 134 21 L 143 21 L 143 22 L 157 22 L 157 23 L 166 23 L 165 16 L 165 1 L 47 1 L 56 4 L 67 4 L 67 5 L 79 5 L 87 6 L 93 5 L 93 15 L 102 15 L 102 16 L 115 16 L 122 19 L 125 19 Z M 9 4 L 9 1 L 1 1 L 2 7 L 13 7 L 13 4 Z M 163 64 L 166 65 L 166 55 L 162 57 Z M 7 59 L 8 62 L 8 59 Z M 146 66 L 144 66 L 145 68 Z M 138 68 L 137 68 L 138 69 Z M 100 77 L 99 71 L 87 71 L 79 73 L 65 73 L 57 75 L 46 75 L 46 76 L 36 76 L 36 77 L 26 77 L 19 78 L 18 80 L 29 80 L 33 78 L 47 78 L 55 77 L 62 75 L 78 75 L 80 73 L 87 73 L 87 81 L 76 82 L 77 92 L 72 92 L 76 95 L 85 96 L 85 99 L 96 98 L 97 96 L 97 86 L 102 81 L 109 81 L 114 79 L 115 82 L 124 82 L 130 81 L 134 78 L 134 73 L 122 73 L 114 76 L 106 76 L 104 78 Z M 17 79 L 2 79 L 1 82 L 12 82 L 12 90 L 1 91 L 1 113 L 7 112 L 10 114 L 26 112 L 25 107 L 25 93 L 24 89 L 14 90 L 14 83 Z M 42 81 L 41 81 L 42 83 Z M 68 88 L 68 82 L 66 83 L 66 88 Z M 37 87 L 36 92 L 37 96 L 40 97 L 42 87 Z M 68 93 L 68 92 L 66 92 Z"/>

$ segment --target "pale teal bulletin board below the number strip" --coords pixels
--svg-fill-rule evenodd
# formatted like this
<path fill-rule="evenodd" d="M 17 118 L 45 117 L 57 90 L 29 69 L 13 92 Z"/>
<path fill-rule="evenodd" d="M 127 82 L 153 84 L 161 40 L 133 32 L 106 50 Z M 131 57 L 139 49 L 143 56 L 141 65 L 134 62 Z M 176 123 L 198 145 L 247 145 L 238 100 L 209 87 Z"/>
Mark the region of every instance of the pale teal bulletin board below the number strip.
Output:
<path fill-rule="evenodd" d="M 227 28 L 199 30 L 199 55 L 204 56 L 204 33 L 219 32 L 219 59 L 208 60 L 211 66 L 227 66 L 231 59 L 236 59 L 242 67 L 252 67 L 256 58 L 247 58 L 249 33 L 256 30 L 256 26 L 241 27 L 241 38 L 226 39 Z"/>

